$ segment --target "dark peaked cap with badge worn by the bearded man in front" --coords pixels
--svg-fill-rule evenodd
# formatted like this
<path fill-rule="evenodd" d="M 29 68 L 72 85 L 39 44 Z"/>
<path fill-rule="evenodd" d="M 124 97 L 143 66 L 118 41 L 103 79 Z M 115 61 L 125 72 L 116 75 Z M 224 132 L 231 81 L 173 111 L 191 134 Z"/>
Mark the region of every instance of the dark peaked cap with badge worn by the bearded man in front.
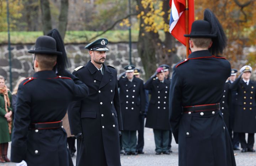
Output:
<path fill-rule="evenodd" d="M 97 39 L 85 46 L 89 51 L 109 51 L 107 48 L 108 40 L 106 38 Z"/>

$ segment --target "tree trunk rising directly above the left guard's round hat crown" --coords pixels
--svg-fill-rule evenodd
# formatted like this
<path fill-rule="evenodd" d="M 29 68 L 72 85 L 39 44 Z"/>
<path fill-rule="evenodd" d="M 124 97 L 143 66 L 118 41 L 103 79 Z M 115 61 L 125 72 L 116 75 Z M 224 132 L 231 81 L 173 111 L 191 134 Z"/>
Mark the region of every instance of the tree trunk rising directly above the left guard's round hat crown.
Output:
<path fill-rule="evenodd" d="M 46 35 L 50 30 L 52 30 L 49 0 L 40 0 L 40 6 L 42 11 L 43 33 Z"/>

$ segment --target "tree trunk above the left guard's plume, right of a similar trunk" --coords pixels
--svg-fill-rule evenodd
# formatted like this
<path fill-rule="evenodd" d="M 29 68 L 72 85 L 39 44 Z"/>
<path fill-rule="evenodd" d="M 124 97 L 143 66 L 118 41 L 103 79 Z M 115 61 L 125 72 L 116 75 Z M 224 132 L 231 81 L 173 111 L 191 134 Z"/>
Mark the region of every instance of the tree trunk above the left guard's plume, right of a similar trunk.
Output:
<path fill-rule="evenodd" d="M 68 24 L 68 6 L 68 0 L 61 0 L 58 30 L 63 40 L 65 37 L 66 27 Z"/>

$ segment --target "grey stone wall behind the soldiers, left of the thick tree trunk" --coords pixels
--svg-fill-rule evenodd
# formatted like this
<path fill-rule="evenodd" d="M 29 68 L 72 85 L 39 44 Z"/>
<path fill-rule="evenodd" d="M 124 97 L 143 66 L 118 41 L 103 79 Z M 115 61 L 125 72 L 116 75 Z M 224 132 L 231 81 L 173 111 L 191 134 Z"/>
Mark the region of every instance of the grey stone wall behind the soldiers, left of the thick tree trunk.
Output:
<path fill-rule="evenodd" d="M 85 65 L 90 60 L 88 50 L 84 48 L 85 44 L 80 45 L 66 45 L 66 52 L 69 59 L 69 70 L 73 71 L 80 65 Z M 28 53 L 28 50 L 33 50 L 34 45 L 12 45 L 11 51 L 12 57 L 12 87 L 16 85 L 16 81 L 20 77 L 33 76 L 34 70 L 32 69 L 32 54 Z M 117 69 L 118 73 L 122 73 L 123 67 L 129 64 L 129 44 L 118 43 L 108 44 L 110 49 L 107 52 L 106 63 L 112 65 Z M 132 44 L 132 63 L 142 69 L 142 62 L 138 56 L 137 44 Z M 10 85 L 10 72 L 9 72 L 9 51 L 7 45 L 0 46 L 0 75 L 4 76 L 7 81 L 7 86 Z M 142 75 L 143 77 L 143 75 Z"/>

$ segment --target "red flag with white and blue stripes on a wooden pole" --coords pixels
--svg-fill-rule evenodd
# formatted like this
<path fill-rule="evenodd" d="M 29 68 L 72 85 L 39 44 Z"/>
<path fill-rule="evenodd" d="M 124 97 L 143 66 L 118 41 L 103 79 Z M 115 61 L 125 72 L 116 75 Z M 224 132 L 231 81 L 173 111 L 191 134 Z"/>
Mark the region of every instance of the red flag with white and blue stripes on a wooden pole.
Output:
<path fill-rule="evenodd" d="M 194 0 L 188 1 L 188 33 L 191 31 L 191 25 L 194 22 Z M 170 33 L 178 41 L 186 46 L 186 0 L 170 0 Z"/>

